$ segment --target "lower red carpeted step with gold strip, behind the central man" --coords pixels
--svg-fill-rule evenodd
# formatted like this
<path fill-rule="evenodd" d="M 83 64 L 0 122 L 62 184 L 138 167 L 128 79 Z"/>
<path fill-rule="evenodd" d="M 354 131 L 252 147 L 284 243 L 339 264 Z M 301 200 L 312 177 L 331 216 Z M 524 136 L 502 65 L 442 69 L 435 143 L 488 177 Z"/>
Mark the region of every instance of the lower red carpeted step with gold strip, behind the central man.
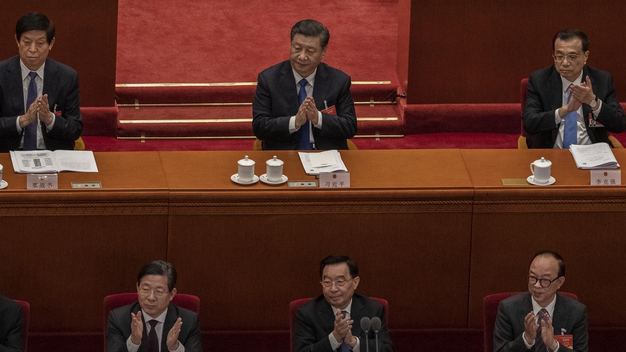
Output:
<path fill-rule="evenodd" d="M 358 135 L 402 135 L 396 105 L 357 105 Z M 252 137 L 252 106 L 120 107 L 119 137 Z"/>

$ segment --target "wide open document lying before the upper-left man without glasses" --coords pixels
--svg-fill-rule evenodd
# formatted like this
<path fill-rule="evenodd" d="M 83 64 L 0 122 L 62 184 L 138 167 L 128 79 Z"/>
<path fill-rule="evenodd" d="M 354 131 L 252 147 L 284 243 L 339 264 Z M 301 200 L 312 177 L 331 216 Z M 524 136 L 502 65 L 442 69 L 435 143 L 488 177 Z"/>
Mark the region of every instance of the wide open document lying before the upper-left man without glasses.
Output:
<path fill-rule="evenodd" d="M 18 150 L 10 153 L 16 173 L 98 172 L 91 150 Z"/>

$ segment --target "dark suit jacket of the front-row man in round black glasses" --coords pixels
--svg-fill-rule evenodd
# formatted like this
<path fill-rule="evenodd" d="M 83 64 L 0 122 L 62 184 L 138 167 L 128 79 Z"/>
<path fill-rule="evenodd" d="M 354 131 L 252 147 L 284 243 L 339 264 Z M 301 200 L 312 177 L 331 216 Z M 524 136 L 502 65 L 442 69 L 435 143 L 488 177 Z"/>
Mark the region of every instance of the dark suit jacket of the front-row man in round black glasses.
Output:
<path fill-rule="evenodd" d="M 494 352 L 528 352 L 522 340 L 524 318 L 533 310 L 530 292 L 522 292 L 504 299 L 498 305 L 496 326 L 493 331 Z M 587 352 L 587 307 L 568 296 L 557 294 L 552 314 L 552 326 L 555 334 L 565 329 L 565 334 L 572 334 L 574 351 Z M 562 344 L 558 351 L 572 351 Z"/>

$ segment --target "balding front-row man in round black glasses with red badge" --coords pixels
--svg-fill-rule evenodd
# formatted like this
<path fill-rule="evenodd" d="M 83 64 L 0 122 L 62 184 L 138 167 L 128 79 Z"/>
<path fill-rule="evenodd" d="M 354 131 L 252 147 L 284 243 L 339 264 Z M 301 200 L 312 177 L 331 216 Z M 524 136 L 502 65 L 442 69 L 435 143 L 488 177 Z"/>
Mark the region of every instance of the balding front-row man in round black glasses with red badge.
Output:
<path fill-rule="evenodd" d="M 498 306 L 493 351 L 567 352 L 555 339 L 570 335 L 573 351 L 587 352 L 587 308 L 557 294 L 565 282 L 565 262 L 556 252 L 535 254 L 528 271 L 528 291 L 504 299 Z"/>

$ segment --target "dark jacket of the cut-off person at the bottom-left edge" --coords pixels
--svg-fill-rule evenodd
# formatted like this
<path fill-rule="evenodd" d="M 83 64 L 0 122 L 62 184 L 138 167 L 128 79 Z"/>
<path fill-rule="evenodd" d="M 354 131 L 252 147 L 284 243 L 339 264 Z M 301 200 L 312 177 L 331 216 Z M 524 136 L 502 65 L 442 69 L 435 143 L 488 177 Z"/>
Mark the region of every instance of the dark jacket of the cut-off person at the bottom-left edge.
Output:
<path fill-rule="evenodd" d="M 23 351 L 22 308 L 13 299 L 0 296 L 0 352 Z"/>

